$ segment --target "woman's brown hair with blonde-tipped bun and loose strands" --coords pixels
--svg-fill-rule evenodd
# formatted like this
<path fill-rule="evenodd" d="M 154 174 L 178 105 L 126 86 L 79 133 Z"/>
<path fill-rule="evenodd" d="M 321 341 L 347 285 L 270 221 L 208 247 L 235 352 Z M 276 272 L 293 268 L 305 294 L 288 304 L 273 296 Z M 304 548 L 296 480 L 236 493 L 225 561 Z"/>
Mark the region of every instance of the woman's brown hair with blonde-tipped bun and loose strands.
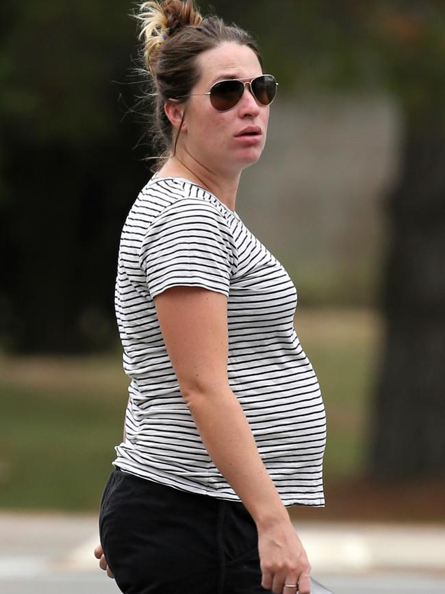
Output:
<path fill-rule="evenodd" d="M 149 159 L 157 160 L 155 171 L 175 154 L 181 131 L 179 125 L 173 141 L 173 127 L 164 111 L 164 103 L 175 99 L 186 103 L 190 92 L 201 77 L 197 56 L 226 42 L 250 47 L 263 68 L 262 57 L 252 36 L 236 25 L 226 25 L 218 16 L 201 16 L 192 0 L 147 1 L 138 5 L 133 16 L 139 23 L 142 40 L 142 72 L 149 75 L 154 99 L 151 125 L 147 130 L 150 144 L 160 145 L 162 154 Z M 186 110 L 183 111 L 183 119 Z"/>

